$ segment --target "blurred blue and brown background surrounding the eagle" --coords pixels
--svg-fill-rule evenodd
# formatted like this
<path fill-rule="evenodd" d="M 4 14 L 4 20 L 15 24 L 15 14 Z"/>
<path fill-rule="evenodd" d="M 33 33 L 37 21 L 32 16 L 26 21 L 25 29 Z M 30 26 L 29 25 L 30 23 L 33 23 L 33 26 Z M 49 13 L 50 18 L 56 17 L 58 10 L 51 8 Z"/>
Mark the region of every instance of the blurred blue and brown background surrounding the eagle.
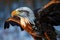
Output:
<path fill-rule="evenodd" d="M 10 17 L 11 12 L 16 8 L 27 6 L 35 10 L 42 8 L 49 1 L 51 0 L 0 0 L 0 40 L 33 40 L 31 35 L 26 31 L 21 31 L 19 27 L 10 26 L 9 29 L 4 30 L 4 21 Z M 55 26 L 55 28 L 60 35 L 60 27 Z"/>

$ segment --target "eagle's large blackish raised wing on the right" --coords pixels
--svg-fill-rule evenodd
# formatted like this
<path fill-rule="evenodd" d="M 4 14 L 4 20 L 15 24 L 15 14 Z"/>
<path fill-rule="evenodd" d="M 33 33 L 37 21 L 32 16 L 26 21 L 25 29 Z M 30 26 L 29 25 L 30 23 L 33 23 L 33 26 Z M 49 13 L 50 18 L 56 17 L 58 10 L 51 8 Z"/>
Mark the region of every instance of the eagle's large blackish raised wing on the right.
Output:
<path fill-rule="evenodd" d="M 46 22 L 53 26 L 60 25 L 60 3 L 53 3 L 39 13 L 40 22 Z"/>

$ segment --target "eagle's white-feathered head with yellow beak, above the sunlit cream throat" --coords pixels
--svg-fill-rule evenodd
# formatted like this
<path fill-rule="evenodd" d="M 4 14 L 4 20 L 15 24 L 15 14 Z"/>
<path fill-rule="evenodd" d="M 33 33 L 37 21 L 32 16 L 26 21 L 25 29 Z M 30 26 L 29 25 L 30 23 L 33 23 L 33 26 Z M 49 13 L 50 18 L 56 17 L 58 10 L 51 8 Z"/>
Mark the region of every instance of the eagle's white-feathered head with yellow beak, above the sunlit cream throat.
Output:
<path fill-rule="evenodd" d="M 35 20 L 34 12 L 28 7 L 17 8 L 16 10 L 14 10 L 12 12 L 11 16 L 12 17 L 13 16 L 18 16 L 20 18 L 26 18 L 26 19 L 29 20 L 29 22 L 34 24 L 34 20 Z"/>

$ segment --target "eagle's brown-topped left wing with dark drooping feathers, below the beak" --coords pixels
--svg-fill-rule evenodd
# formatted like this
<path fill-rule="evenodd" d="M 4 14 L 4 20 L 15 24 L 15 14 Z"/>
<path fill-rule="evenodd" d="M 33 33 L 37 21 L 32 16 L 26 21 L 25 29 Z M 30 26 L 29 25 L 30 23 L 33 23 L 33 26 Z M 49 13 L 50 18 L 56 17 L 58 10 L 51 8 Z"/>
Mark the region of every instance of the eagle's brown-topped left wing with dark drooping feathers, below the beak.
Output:
<path fill-rule="evenodd" d="M 22 30 L 22 31 L 24 30 L 24 29 L 21 27 L 21 25 L 20 25 L 20 18 L 17 17 L 17 16 L 8 18 L 8 19 L 5 21 L 5 23 L 4 23 L 4 29 L 9 28 L 9 27 L 10 27 L 10 24 L 11 24 L 12 26 L 15 26 L 15 25 L 20 26 L 21 30 Z"/>

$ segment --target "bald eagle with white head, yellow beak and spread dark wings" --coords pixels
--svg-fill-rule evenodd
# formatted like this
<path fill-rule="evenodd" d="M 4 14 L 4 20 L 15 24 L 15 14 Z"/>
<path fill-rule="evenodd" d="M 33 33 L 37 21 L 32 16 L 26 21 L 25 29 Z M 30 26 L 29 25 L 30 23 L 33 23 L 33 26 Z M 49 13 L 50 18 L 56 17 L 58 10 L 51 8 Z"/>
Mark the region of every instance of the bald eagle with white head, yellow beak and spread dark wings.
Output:
<path fill-rule="evenodd" d="M 4 28 L 9 24 L 20 26 L 22 30 L 30 33 L 35 40 L 57 40 L 53 26 L 60 25 L 60 2 L 51 1 L 36 14 L 28 7 L 20 7 L 11 13 L 5 21 Z"/>

